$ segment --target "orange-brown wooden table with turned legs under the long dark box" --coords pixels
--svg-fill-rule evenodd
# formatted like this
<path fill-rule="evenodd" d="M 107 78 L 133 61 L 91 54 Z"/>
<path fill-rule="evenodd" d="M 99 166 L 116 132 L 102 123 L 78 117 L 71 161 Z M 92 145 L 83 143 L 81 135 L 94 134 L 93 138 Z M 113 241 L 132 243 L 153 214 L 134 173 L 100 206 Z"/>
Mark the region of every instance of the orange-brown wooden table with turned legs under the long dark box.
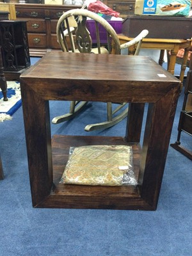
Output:
<path fill-rule="evenodd" d="M 119 34 L 118 38 L 120 40 L 120 44 L 124 44 L 125 42 L 129 42 L 132 40 L 132 38 L 125 36 L 123 34 Z M 182 66 L 180 70 L 180 81 L 183 82 L 184 79 L 184 72 L 186 70 L 187 61 L 188 61 L 188 47 L 191 45 L 192 40 L 185 40 L 185 39 L 162 39 L 162 38 L 144 38 L 143 42 L 141 44 L 142 49 L 157 49 L 161 50 L 160 56 L 159 56 L 159 65 L 163 65 L 164 61 L 164 50 L 170 50 L 170 60 L 168 61 L 168 72 L 174 75 L 175 70 L 175 63 L 177 58 L 177 52 L 179 49 L 184 48 L 186 49 L 184 53 L 184 58 L 182 61 Z M 112 44 L 113 47 L 113 44 Z M 134 52 L 136 51 L 136 45 L 132 45 L 129 48 L 129 54 L 134 55 Z"/>

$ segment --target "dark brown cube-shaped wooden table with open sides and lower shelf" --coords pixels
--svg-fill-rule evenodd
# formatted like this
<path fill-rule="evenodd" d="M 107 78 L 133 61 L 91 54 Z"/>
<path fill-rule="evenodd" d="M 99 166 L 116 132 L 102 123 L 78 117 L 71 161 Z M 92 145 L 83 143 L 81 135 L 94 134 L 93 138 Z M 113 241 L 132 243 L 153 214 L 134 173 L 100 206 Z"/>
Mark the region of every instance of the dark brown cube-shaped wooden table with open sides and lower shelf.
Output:
<path fill-rule="evenodd" d="M 20 76 L 20 87 L 33 207 L 156 209 L 180 92 L 177 78 L 146 56 L 54 51 Z M 125 136 L 54 135 L 51 140 L 49 100 L 130 102 Z M 69 147 L 95 144 L 132 145 L 138 186 L 59 183 Z"/>

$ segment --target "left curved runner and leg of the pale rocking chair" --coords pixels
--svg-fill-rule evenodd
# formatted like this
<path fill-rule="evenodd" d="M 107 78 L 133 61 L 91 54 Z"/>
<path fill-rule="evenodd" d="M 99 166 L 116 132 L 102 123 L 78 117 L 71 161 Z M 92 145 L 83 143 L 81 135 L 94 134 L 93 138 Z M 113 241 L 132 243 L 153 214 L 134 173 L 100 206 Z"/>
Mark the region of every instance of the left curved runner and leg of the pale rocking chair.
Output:
<path fill-rule="evenodd" d="M 67 120 L 70 120 L 74 118 L 76 115 L 79 114 L 80 111 L 83 110 L 84 106 L 87 104 L 87 101 L 82 102 L 70 102 L 70 111 L 69 113 L 61 116 L 56 116 L 52 119 L 52 124 L 60 124 L 62 122 L 65 122 Z"/>

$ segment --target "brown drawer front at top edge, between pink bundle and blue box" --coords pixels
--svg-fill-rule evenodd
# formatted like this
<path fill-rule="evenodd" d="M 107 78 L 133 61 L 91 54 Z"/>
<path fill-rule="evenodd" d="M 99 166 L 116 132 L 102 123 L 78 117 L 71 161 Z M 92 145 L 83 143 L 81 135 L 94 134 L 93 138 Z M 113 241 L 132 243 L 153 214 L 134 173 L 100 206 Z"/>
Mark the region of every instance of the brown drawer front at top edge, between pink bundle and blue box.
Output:
<path fill-rule="evenodd" d="M 109 8 L 116 12 L 120 12 L 121 15 L 134 14 L 134 2 L 116 2 L 108 1 Z"/>

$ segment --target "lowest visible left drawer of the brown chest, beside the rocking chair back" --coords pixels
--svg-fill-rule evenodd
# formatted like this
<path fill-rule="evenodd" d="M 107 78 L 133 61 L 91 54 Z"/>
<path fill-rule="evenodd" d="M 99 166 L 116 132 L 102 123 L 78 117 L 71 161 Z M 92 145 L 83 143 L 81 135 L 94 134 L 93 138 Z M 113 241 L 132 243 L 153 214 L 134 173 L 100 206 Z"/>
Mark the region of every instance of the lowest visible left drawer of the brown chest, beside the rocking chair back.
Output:
<path fill-rule="evenodd" d="M 46 48 L 47 40 L 45 34 L 31 34 L 28 33 L 29 48 Z"/>

